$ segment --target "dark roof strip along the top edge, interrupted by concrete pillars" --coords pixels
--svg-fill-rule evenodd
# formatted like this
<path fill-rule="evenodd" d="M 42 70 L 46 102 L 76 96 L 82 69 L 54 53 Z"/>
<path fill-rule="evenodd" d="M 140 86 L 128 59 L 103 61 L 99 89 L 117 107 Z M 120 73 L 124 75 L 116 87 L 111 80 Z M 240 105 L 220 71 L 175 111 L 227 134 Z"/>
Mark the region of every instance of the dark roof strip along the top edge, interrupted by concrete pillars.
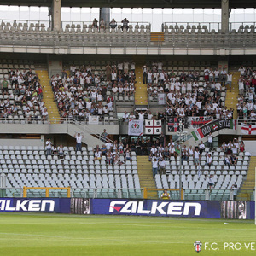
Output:
<path fill-rule="evenodd" d="M 62 7 L 220 8 L 221 0 L 60 0 Z M 52 0 L 8 0 L 5 5 L 51 6 Z M 255 8 L 255 0 L 230 0 L 230 8 Z"/>

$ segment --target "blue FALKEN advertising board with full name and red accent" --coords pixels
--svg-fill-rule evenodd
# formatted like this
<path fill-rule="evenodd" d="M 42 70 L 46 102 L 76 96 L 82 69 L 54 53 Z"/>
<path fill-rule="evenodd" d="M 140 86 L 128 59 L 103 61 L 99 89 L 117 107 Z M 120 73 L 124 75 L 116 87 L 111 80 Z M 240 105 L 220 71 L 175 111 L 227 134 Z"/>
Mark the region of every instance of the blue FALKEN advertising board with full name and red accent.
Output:
<path fill-rule="evenodd" d="M 221 218 L 220 201 L 91 199 L 91 214 Z"/>

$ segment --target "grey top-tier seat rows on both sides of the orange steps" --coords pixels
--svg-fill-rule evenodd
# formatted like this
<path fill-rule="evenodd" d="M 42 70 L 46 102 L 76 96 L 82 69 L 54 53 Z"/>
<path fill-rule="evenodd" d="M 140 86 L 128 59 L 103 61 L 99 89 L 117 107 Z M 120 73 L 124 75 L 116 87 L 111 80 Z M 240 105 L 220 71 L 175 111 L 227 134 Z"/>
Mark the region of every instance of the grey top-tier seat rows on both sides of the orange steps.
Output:
<path fill-rule="evenodd" d="M 204 47 L 204 46 L 250 46 L 255 42 L 256 33 L 167 33 L 162 46 Z M 40 46 L 154 46 L 149 33 L 141 32 L 6 32 L 0 33 L 2 44 Z"/>

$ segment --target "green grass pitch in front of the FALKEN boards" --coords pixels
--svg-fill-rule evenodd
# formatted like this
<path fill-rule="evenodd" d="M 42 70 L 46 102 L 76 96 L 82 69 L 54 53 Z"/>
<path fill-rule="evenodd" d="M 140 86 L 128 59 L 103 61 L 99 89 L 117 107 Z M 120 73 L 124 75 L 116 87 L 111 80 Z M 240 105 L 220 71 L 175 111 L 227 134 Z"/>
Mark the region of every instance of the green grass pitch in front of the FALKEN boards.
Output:
<path fill-rule="evenodd" d="M 224 224 L 228 223 L 228 224 Z M 0 255 L 255 255 L 254 221 L 199 218 L 0 214 Z M 213 244 L 215 251 L 205 242 Z M 224 242 L 241 243 L 224 250 Z M 236 245 L 239 248 L 240 245 Z"/>

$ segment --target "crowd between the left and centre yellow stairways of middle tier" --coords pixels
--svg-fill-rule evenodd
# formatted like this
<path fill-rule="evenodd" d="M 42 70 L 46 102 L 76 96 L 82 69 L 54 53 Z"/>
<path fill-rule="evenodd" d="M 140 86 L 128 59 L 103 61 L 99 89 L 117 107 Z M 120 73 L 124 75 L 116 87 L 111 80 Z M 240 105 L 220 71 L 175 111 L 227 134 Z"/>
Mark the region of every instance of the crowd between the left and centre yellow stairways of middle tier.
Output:
<path fill-rule="evenodd" d="M 114 96 L 133 96 L 135 90 L 135 63 L 119 61 L 108 64 L 99 73 L 90 65 L 70 67 L 61 76 L 52 76 L 51 85 L 61 118 L 88 120 L 90 115 L 100 119 L 113 111 Z"/>

